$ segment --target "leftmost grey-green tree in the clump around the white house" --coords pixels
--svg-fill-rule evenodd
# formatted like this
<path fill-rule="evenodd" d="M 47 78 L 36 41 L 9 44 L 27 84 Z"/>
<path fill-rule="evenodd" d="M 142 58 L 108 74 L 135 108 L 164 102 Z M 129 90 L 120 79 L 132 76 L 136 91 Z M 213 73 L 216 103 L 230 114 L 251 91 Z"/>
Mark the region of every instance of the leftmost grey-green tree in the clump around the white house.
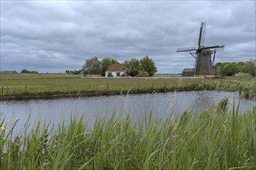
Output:
<path fill-rule="evenodd" d="M 100 74 L 101 73 L 101 62 L 99 61 L 97 56 L 94 56 L 91 59 L 85 59 L 85 64 L 82 66 L 82 68 L 90 76 L 92 76 L 92 74 Z"/>

